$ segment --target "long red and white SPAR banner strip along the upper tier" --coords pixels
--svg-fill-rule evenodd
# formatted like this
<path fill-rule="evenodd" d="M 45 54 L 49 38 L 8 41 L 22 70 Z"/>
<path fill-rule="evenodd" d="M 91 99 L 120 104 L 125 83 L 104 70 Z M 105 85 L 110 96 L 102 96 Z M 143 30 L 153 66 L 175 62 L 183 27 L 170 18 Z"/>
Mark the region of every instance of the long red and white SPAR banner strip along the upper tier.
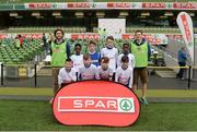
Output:
<path fill-rule="evenodd" d="M 197 2 L 31 2 L 1 4 L 0 10 L 74 10 L 74 9 L 143 9 L 143 10 L 197 10 Z"/>

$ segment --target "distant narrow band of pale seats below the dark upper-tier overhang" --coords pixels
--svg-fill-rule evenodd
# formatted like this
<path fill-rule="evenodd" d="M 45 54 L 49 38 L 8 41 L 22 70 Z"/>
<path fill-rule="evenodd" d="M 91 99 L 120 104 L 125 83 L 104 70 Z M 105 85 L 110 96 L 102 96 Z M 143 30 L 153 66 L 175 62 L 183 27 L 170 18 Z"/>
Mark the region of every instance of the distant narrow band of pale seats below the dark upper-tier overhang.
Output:
<path fill-rule="evenodd" d="M 9 27 L 7 29 L 1 31 L 1 33 L 53 33 L 56 26 L 21 26 L 21 27 Z M 85 27 L 59 27 L 62 28 L 65 33 L 85 33 Z M 127 26 L 126 33 L 135 33 L 135 31 L 140 29 L 144 33 L 157 33 L 157 34 L 181 34 L 179 28 L 175 27 L 150 27 L 150 26 Z M 195 33 L 197 28 L 194 28 Z M 93 27 L 93 33 L 97 33 L 97 27 Z"/>

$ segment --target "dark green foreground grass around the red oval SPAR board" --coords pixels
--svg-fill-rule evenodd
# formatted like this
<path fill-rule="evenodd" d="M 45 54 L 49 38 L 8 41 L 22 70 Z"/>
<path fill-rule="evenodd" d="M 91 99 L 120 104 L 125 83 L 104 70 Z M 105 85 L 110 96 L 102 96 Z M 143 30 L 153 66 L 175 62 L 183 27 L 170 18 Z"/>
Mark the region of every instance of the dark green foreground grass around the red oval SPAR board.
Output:
<path fill-rule="evenodd" d="M 0 100 L 0 131 L 131 131 L 131 130 L 197 130 L 196 104 L 151 104 L 142 106 L 140 118 L 131 127 L 67 127 L 53 117 L 47 101 Z"/>

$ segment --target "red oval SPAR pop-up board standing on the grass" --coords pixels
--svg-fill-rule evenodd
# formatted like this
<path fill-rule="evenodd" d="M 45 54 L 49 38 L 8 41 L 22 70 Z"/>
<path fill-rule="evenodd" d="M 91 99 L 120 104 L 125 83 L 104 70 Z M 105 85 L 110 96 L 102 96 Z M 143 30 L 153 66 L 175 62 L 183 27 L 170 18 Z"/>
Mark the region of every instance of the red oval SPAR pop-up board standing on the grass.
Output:
<path fill-rule="evenodd" d="M 128 127 L 139 118 L 140 104 L 134 92 L 121 84 L 83 81 L 56 94 L 53 112 L 67 125 Z"/>

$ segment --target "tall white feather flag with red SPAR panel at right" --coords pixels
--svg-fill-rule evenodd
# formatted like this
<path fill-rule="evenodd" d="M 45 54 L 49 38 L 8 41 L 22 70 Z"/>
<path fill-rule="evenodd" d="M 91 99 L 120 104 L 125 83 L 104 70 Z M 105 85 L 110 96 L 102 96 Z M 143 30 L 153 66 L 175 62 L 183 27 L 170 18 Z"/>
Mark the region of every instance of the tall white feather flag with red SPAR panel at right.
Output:
<path fill-rule="evenodd" d="M 186 12 L 181 12 L 176 19 L 177 25 L 182 32 L 183 38 L 185 40 L 187 50 L 194 63 L 194 31 L 193 21 Z"/>

